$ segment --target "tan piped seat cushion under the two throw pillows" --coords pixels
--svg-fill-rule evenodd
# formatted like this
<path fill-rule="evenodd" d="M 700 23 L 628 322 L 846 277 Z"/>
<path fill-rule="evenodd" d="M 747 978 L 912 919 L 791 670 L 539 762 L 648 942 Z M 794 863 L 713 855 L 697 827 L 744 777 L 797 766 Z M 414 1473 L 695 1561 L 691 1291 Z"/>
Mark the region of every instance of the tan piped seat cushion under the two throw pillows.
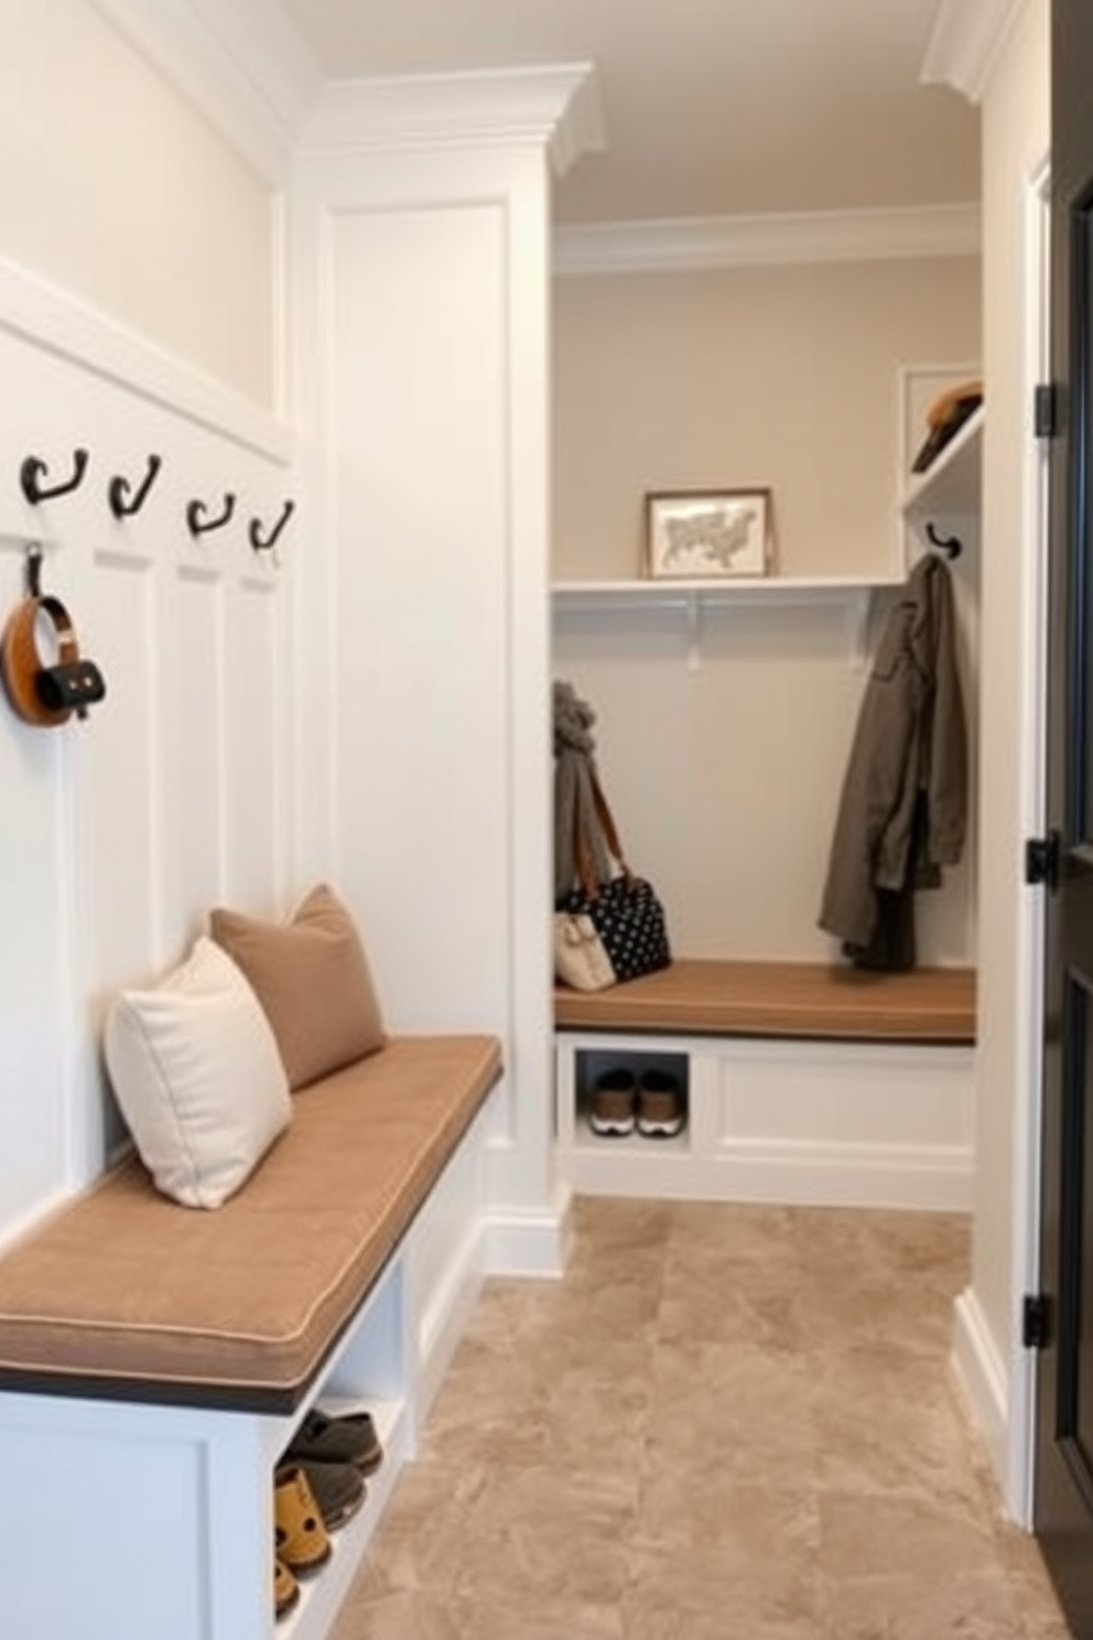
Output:
<path fill-rule="evenodd" d="M 0 1383 L 290 1410 L 500 1069 L 492 1036 L 393 1038 L 298 1092 L 215 1212 L 126 1163 L 0 1256 Z"/>

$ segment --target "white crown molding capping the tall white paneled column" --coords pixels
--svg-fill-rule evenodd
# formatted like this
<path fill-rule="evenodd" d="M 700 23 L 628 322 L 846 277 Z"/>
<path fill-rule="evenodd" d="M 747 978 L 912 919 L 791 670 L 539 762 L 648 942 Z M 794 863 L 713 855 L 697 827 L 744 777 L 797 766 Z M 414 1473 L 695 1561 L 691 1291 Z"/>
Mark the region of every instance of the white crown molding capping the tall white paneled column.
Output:
<path fill-rule="evenodd" d="M 302 133 L 308 154 L 513 143 L 546 148 L 557 175 L 603 148 L 592 64 L 331 80 Z"/>

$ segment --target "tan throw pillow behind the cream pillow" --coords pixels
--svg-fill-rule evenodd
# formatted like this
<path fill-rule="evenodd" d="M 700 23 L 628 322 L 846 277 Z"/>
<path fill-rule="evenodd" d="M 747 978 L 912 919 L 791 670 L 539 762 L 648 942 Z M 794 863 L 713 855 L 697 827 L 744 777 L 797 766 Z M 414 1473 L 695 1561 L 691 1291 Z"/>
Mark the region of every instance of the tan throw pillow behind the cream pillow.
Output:
<path fill-rule="evenodd" d="M 383 1046 L 364 946 L 352 917 L 324 882 L 288 922 L 216 907 L 210 932 L 265 1009 L 293 1092 Z"/>

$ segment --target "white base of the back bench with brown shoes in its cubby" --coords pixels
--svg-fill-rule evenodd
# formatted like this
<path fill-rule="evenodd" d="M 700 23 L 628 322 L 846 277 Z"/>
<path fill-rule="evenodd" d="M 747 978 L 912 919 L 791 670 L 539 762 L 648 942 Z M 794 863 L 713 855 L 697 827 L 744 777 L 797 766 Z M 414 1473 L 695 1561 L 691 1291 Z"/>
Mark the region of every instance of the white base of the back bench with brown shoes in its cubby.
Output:
<path fill-rule="evenodd" d="M 595 1076 L 665 1056 L 687 1076 L 685 1133 L 595 1135 Z M 559 1032 L 559 1171 L 582 1194 L 964 1212 L 973 1059 L 959 1045 Z"/>

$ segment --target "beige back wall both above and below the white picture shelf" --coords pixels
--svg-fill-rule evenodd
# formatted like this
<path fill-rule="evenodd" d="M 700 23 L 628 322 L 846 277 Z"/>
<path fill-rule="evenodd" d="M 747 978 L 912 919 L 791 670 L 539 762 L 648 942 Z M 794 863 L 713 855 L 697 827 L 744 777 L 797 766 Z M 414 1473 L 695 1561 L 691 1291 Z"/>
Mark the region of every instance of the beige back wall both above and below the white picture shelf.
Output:
<path fill-rule="evenodd" d="M 701 484 L 773 489 L 783 574 L 890 572 L 900 366 L 977 359 L 978 320 L 975 261 L 559 280 L 556 577 L 637 574 L 642 492 Z M 959 571 L 972 622 L 977 571 Z M 600 713 L 680 954 L 832 953 L 816 913 L 865 682 L 847 615 L 710 610 L 693 656 L 678 610 L 556 618 L 554 672 Z M 968 850 L 919 897 L 924 961 L 973 959 L 973 881 Z"/>

